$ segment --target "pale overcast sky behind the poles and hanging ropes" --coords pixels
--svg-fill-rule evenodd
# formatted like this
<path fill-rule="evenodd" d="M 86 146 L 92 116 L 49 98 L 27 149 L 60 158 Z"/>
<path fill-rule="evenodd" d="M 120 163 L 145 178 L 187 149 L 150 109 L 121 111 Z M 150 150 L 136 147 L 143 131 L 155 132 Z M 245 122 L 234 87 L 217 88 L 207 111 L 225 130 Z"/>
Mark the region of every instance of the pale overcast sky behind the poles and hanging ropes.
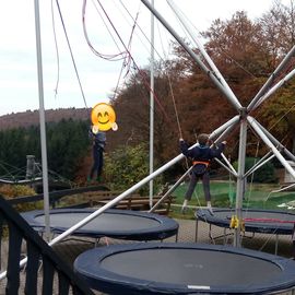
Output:
<path fill-rule="evenodd" d="M 272 0 L 174 0 L 174 2 L 198 31 L 206 30 L 215 19 L 229 20 L 236 11 L 240 10 L 246 11 L 248 16 L 255 20 L 272 5 Z M 288 3 L 288 0 L 283 2 Z M 129 44 L 133 25 L 132 17 L 138 15 L 139 26 L 134 28 L 130 54 L 139 67 L 148 66 L 151 48 L 148 42 L 151 35 L 151 14 L 145 5 L 140 0 L 88 0 L 86 3 L 85 24 L 88 38 L 97 51 L 108 56 L 125 50 L 122 44 Z M 119 37 L 116 36 L 111 26 L 108 26 L 111 30 L 110 33 L 106 28 L 107 19 L 105 17 L 103 22 L 99 3 L 104 7 Z M 123 75 L 119 80 L 122 60 L 105 60 L 91 50 L 83 34 L 82 0 L 59 0 L 59 5 L 85 101 L 74 71 L 56 1 L 43 0 L 39 11 L 45 108 L 83 108 L 108 102 L 107 98 L 118 81 L 122 83 L 126 79 L 125 68 Z M 154 5 L 178 34 L 186 37 L 166 1 L 154 0 Z M 0 116 L 38 109 L 34 0 L 1 0 L 0 13 Z M 115 36 L 115 40 L 111 36 Z M 172 39 L 166 30 L 155 21 L 156 59 L 169 55 L 168 44 Z M 59 83 L 56 94 L 57 81 Z"/>

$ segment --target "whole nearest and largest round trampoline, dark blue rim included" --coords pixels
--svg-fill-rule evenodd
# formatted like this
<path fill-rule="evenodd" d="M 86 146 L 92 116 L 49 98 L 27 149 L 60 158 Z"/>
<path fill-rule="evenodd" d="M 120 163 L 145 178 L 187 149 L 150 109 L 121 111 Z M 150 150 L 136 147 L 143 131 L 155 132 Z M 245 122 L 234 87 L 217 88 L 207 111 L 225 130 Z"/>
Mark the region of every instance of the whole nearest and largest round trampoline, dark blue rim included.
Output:
<path fill-rule="evenodd" d="M 107 294 L 266 294 L 295 286 L 295 261 L 231 246 L 114 245 L 81 253 L 74 270 Z"/>

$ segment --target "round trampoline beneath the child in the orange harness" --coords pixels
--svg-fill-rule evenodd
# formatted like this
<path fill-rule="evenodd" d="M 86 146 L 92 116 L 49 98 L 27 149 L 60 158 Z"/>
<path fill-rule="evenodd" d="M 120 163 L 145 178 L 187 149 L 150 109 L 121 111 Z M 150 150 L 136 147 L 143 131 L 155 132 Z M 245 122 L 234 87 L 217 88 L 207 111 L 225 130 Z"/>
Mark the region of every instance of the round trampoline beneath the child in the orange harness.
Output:
<path fill-rule="evenodd" d="M 213 215 L 206 209 L 196 212 L 197 220 L 227 228 L 233 215 L 233 209 L 215 209 Z M 251 233 L 292 235 L 295 223 L 295 214 L 284 211 L 243 209 L 241 216 L 245 231 Z"/>

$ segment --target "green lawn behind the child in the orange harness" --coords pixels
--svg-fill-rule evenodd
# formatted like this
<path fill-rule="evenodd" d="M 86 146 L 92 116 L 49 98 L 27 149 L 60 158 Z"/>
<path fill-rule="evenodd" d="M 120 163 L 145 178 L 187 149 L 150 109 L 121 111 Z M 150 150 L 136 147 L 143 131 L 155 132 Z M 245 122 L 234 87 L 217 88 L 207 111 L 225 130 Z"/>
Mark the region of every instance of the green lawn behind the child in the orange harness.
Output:
<path fill-rule="evenodd" d="M 176 197 L 176 204 L 182 204 L 187 188 L 188 182 L 184 182 L 173 192 L 173 196 Z M 287 205 L 278 205 L 295 201 L 295 191 L 273 192 L 278 189 L 280 189 L 279 184 L 247 184 L 243 208 L 292 210 L 291 208 L 287 208 Z M 235 208 L 235 190 L 236 186 L 234 182 L 212 180 L 212 205 L 215 208 Z M 197 208 L 205 205 L 201 182 L 198 182 L 189 205 Z M 185 217 L 193 217 L 194 211 L 194 208 L 190 209 Z M 295 208 L 292 211 L 295 213 Z M 184 215 L 180 214 L 180 208 L 179 210 L 174 209 L 172 215 L 174 217 L 184 217 Z"/>

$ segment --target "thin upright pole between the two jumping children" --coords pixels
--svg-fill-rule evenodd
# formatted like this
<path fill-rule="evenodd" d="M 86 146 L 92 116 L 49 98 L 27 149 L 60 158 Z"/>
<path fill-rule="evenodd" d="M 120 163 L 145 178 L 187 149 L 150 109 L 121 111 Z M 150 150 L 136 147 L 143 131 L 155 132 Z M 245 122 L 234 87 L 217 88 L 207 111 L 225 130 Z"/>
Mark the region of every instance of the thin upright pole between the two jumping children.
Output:
<path fill-rule="evenodd" d="M 154 7 L 154 0 L 152 0 Z M 154 14 L 151 13 L 151 91 L 150 91 L 150 174 L 154 172 Z M 154 182 L 150 181 L 150 209 L 153 206 Z"/>

